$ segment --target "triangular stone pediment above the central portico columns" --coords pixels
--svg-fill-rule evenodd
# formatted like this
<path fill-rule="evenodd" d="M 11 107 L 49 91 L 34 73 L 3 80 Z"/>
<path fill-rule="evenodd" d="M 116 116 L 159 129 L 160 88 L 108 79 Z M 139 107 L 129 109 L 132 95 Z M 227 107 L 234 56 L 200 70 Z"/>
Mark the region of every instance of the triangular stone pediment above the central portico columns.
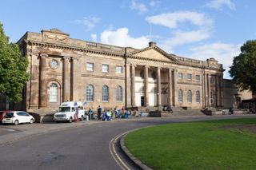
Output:
<path fill-rule="evenodd" d="M 145 59 L 145 60 L 177 62 L 176 58 L 170 56 L 168 53 L 158 48 L 157 46 L 141 49 L 141 50 L 129 53 L 129 55 L 131 57 L 139 57 L 140 59 Z"/>

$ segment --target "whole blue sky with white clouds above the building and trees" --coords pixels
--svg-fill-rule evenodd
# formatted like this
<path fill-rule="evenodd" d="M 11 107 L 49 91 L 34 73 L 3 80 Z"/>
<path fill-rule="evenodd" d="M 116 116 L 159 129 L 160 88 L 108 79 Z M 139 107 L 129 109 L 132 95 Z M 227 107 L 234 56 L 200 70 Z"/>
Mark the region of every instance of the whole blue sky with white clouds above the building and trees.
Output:
<path fill-rule="evenodd" d="M 254 0 L 2 0 L 0 21 L 12 42 L 26 31 L 58 28 L 112 45 L 143 48 L 153 41 L 178 56 L 214 57 L 228 70 L 240 46 L 256 39 L 255 6 Z"/>

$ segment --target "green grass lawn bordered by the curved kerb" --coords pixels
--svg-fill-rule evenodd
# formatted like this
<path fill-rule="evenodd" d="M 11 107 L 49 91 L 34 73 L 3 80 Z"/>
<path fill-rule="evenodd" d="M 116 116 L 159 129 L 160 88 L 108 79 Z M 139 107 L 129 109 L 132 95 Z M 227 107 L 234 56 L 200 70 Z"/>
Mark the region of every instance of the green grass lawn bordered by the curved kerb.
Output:
<path fill-rule="evenodd" d="M 256 118 L 142 128 L 125 144 L 154 169 L 256 169 Z"/>

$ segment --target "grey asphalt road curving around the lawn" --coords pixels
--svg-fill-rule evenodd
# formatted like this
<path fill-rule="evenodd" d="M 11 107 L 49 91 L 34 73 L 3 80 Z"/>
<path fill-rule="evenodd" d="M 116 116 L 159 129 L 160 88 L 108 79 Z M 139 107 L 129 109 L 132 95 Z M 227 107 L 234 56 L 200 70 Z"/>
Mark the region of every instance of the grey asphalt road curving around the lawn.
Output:
<path fill-rule="evenodd" d="M 17 126 L 21 128 L 10 126 L 21 133 L 26 132 L 27 137 L 0 144 L 0 169 L 121 169 L 110 154 L 109 144 L 114 136 L 122 132 L 149 125 L 230 117 L 237 116 L 146 118 L 90 124 L 84 121 L 73 128 L 69 127 L 70 124 L 48 125 L 64 128 L 55 129 L 54 132 L 43 131 L 34 136 L 30 136 L 34 129 L 26 128 L 29 125 Z M 37 126 L 47 129 L 47 125 L 33 127 Z"/>

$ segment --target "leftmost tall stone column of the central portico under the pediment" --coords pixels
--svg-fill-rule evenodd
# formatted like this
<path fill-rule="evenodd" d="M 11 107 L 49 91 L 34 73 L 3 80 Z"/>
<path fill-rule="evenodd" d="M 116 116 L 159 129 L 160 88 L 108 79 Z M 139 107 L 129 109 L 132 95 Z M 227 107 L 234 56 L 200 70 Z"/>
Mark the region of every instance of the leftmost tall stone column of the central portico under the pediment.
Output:
<path fill-rule="evenodd" d="M 131 97 L 131 87 L 130 87 L 130 64 L 126 64 L 126 108 L 130 108 L 131 107 L 131 103 L 130 103 L 130 97 Z"/>

